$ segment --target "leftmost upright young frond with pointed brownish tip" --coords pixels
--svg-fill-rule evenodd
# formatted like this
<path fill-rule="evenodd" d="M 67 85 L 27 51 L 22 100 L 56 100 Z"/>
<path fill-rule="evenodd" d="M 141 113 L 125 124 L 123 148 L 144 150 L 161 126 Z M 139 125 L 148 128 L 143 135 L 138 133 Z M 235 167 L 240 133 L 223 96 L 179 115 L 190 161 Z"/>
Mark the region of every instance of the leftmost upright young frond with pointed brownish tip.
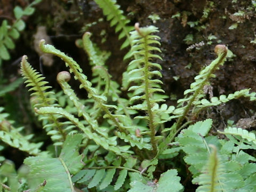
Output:
<path fill-rule="evenodd" d="M 27 62 L 26 55 L 22 57 L 21 74 L 23 78 L 27 79 L 25 81 L 25 83 L 27 84 L 26 86 L 31 86 L 31 88 L 29 89 L 29 91 L 33 91 L 33 93 L 31 93 L 31 96 L 35 96 L 37 99 L 37 103 L 34 107 L 47 107 L 51 106 L 51 103 L 54 103 L 54 99 L 50 97 L 53 92 L 46 91 L 47 89 L 50 89 L 51 86 L 46 86 L 48 82 L 43 81 L 44 77 L 42 77 L 41 74 L 39 74 L 35 69 L 30 66 L 30 64 Z M 57 140 L 59 141 L 64 141 L 66 138 L 66 133 L 63 130 L 63 125 L 65 123 L 60 123 L 57 118 L 58 117 L 54 115 L 47 116 L 47 119 L 51 121 L 51 124 L 46 124 L 44 128 L 46 129 L 47 127 L 47 132 L 51 130 L 57 131 L 60 137 L 54 135 L 54 138 L 58 138 Z"/>

